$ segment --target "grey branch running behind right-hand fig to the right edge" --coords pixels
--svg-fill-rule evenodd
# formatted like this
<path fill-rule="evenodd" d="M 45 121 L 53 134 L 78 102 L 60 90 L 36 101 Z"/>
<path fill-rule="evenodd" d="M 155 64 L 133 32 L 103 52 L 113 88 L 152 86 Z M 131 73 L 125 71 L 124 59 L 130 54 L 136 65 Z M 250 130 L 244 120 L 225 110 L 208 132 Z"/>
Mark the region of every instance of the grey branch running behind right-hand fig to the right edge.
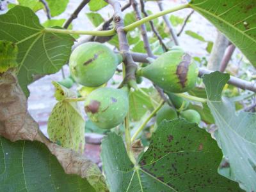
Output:
<path fill-rule="evenodd" d="M 141 54 L 141 53 L 131 53 L 132 58 L 135 62 L 141 62 L 141 63 L 148 63 L 147 54 Z M 156 56 L 157 57 L 157 56 Z M 212 73 L 211 70 L 206 70 L 204 68 L 199 68 L 199 74 L 198 77 L 202 77 L 204 74 Z M 230 75 L 230 79 L 228 80 L 228 84 L 234 85 L 236 87 L 239 87 L 241 89 L 247 89 L 253 92 L 256 92 L 256 83 L 255 82 L 248 82 L 246 80 L 242 80 L 240 78 L 234 77 Z"/>

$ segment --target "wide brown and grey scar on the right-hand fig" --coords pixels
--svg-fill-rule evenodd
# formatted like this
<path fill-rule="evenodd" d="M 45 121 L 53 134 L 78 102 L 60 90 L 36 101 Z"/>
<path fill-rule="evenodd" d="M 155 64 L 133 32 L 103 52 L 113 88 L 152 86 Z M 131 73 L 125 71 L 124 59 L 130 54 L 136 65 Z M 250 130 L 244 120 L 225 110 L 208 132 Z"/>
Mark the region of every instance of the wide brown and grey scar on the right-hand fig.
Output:
<path fill-rule="evenodd" d="M 188 68 L 191 63 L 191 56 L 189 54 L 184 54 L 182 56 L 182 61 L 177 66 L 176 75 L 179 78 L 179 83 L 182 88 L 186 87 L 186 81 L 188 80 Z"/>

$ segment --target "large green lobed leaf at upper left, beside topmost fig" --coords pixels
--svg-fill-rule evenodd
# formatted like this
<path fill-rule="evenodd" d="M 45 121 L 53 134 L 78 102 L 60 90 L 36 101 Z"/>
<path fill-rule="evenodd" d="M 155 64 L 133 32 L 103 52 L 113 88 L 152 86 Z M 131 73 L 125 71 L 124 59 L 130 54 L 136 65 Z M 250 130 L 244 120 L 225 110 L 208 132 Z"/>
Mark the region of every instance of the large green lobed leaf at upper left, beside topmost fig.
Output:
<path fill-rule="evenodd" d="M 74 39 L 68 34 L 44 32 L 35 13 L 24 6 L 15 6 L 0 15 L 0 24 L 0 40 L 13 41 L 19 48 L 17 77 L 28 96 L 27 85 L 33 81 L 33 75 L 59 71 L 69 57 Z"/>

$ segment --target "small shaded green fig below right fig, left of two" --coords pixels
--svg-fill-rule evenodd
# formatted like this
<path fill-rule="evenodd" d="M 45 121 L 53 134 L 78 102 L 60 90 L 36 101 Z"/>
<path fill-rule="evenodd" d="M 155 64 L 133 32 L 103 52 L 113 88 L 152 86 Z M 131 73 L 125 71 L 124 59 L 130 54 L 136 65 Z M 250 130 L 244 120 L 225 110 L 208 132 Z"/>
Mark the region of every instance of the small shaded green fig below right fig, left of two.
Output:
<path fill-rule="evenodd" d="M 178 118 L 178 115 L 175 109 L 168 104 L 164 104 L 156 114 L 156 124 L 159 125 L 164 119 L 172 120 L 176 118 Z"/>

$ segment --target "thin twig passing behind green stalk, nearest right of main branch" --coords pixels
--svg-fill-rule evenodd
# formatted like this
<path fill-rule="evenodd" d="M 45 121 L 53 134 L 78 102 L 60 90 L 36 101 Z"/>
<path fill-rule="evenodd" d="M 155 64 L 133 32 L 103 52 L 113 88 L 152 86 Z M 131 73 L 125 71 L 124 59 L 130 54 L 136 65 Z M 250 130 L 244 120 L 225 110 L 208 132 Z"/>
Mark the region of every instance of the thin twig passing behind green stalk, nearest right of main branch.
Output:
<path fill-rule="evenodd" d="M 141 19 L 141 13 L 140 13 L 140 10 L 138 8 L 138 3 L 137 3 L 136 0 L 132 0 L 132 7 L 133 7 L 133 10 L 136 14 L 136 19 L 140 20 Z M 152 53 L 152 50 L 150 48 L 150 44 L 149 44 L 149 41 L 148 41 L 146 25 L 142 24 L 140 26 L 140 28 L 141 28 L 141 35 L 142 35 L 142 38 L 143 38 L 144 48 L 147 51 L 148 57 L 154 58 L 154 54 Z"/>

